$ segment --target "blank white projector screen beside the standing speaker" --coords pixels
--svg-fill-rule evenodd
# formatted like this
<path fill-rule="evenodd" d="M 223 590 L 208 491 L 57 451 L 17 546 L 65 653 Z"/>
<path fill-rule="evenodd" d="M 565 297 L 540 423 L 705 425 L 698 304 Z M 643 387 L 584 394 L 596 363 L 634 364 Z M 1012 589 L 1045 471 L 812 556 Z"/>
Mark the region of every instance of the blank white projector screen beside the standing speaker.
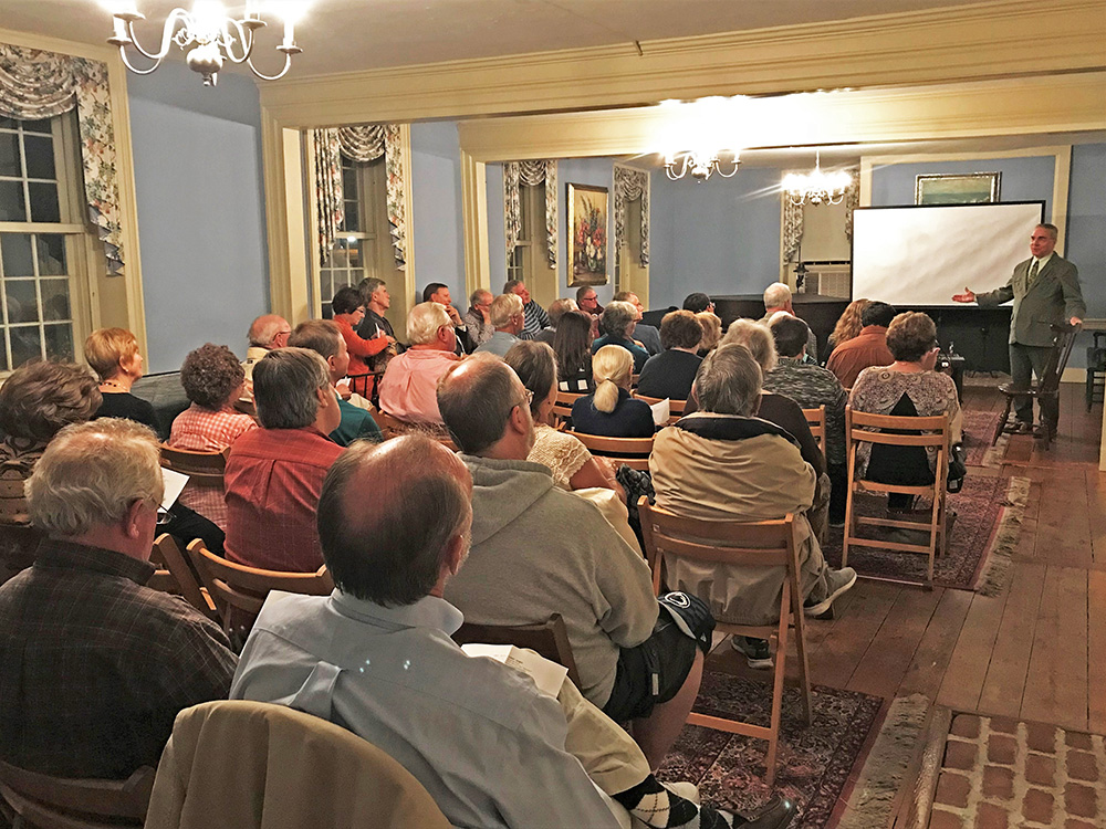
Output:
<path fill-rule="evenodd" d="M 853 213 L 853 296 L 952 305 L 1006 284 L 1030 256 L 1044 202 L 859 208 Z"/>

